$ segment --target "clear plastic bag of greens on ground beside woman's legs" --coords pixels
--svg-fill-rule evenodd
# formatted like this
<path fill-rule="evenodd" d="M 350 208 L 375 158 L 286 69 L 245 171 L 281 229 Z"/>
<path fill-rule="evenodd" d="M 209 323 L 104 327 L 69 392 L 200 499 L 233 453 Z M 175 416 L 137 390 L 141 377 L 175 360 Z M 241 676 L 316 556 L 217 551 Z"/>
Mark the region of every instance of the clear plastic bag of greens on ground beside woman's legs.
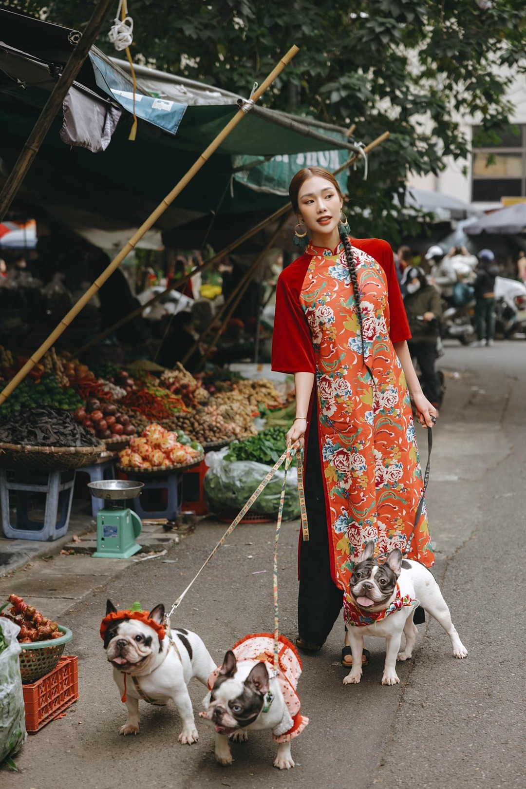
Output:
<path fill-rule="evenodd" d="M 269 473 L 271 466 L 252 461 L 226 461 L 228 447 L 219 452 L 209 452 L 205 458 L 208 471 L 203 489 L 208 507 L 217 514 L 230 517 L 237 515 L 244 503 Z M 284 472 L 280 469 L 256 499 L 249 512 L 256 515 L 271 515 L 278 518 L 279 499 L 282 495 Z M 283 520 L 300 518 L 300 502 L 297 493 L 297 469 L 287 472 Z"/>

